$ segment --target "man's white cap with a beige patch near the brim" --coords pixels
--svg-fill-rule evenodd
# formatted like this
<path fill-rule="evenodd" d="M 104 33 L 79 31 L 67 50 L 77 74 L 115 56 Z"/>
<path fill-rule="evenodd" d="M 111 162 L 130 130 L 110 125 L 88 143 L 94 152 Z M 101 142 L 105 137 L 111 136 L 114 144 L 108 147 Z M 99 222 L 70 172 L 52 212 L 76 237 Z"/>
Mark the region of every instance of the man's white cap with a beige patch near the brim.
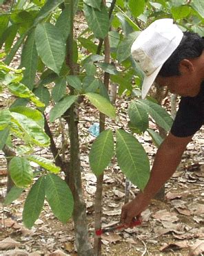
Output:
<path fill-rule="evenodd" d="M 157 19 L 145 28 L 132 44 L 134 60 L 145 73 L 142 98 L 145 98 L 165 61 L 179 46 L 183 32 L 173 19 Z"/>

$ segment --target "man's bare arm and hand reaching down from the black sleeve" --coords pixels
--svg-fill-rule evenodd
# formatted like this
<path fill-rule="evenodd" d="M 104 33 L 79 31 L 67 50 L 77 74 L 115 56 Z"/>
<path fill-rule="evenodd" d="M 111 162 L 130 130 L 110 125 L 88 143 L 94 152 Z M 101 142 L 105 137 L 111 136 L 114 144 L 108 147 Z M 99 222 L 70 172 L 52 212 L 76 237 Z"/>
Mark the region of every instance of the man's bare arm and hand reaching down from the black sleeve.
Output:
<path fill-rule="evenodd" d="M 180 138 L 171 133 L 165 138 L 161 147 L 159 147 L 152 171 L 150 180 L 148 181 L 143 192 L 140 192 L 135 199 L 123 205 L 121 212 L 121 222 L 129 225 L 134 217 L 139 215 L 159 192 L 165 182 L 170 179 L 176 171 L 176 167 L 181 161 L 181 156 L 190 143 L 192 136 Z"/>

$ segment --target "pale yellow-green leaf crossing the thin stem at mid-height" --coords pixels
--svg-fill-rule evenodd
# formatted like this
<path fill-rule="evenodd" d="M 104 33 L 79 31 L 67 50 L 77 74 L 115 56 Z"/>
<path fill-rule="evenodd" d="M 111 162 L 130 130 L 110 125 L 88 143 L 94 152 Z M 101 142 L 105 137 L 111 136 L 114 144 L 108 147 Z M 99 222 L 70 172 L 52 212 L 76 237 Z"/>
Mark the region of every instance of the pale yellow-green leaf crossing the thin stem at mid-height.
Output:
<path fill-rule="evenodd" d="M 90 100 L 90 102 L 99 109 L 101 113 L 104 113 L 110 118 L 116 118 L 116 112 L 112 104 L 103 96 L 97 93 L 85 93 L 85 96 Z"/>

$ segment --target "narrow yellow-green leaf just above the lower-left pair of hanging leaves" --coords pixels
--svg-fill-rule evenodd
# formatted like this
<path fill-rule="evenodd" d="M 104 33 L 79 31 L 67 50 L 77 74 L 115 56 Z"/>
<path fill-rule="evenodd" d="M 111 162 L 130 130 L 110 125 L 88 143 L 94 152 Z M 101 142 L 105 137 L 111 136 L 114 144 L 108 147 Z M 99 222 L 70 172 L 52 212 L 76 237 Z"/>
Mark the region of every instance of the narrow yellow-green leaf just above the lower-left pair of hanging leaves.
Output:
<path fill-rule="evenodd" d="M 50 172 L 54 172 L 54 173 L 60 172 L 60 167 L 57 167 L 56 165 L 54 165 L 54 163 L 52 163 L 51 161 L 49 161 L 48 159 L 42 156 L 32 155 L 32 156 L 26 156 L 26 158 L 29 161 L 32 161 L 34 163 L 37 163 L 38 165 L 41 165 L 41 167 L 43 167 L 44 169 Z"/>

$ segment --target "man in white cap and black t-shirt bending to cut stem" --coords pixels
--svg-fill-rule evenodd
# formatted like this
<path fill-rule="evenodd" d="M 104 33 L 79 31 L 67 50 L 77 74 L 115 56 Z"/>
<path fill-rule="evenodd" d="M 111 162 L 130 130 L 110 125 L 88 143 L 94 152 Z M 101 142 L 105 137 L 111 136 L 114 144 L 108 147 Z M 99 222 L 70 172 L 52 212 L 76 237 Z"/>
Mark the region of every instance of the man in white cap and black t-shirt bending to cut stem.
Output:
<path fill-rule="evenodd" d="M 183 33 L 172 19 L 154 21 L 132 45 L 132 56 L 145 73 L 142 98 L 155 81 L 181 95 L 181 101 L 172 129 L 156 153 L 145 189 L 123 205 L 121 222 L 127 225 L 174 174 L 187 144 L 204 123 L 203 48 L 203 38 Z"/>

